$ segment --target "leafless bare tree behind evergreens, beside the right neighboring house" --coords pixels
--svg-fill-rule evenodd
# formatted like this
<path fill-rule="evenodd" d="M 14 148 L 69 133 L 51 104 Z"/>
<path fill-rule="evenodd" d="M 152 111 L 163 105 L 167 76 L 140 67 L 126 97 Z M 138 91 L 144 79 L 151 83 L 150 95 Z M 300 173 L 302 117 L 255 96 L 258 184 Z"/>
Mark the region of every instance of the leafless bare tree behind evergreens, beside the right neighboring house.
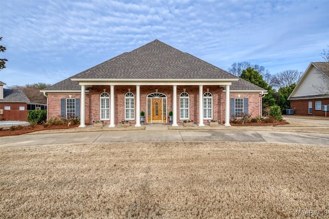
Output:
<path fill-rule="evenodd" d="M 280 71 L 272 77 L 270 84 L 278 88 L 297 84 L 303 74 L 304 72 L 299 70 Z"/>

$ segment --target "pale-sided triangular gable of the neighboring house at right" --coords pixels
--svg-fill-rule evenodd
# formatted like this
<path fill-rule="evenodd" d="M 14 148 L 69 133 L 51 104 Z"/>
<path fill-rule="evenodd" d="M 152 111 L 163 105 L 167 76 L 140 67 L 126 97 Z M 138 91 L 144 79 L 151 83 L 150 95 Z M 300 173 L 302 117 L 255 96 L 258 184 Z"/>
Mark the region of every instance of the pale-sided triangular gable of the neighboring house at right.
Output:
<path fill-rule="evenodd" d="M 329 96 L 329 62 L 312 62 L 288 100 Z"/>

